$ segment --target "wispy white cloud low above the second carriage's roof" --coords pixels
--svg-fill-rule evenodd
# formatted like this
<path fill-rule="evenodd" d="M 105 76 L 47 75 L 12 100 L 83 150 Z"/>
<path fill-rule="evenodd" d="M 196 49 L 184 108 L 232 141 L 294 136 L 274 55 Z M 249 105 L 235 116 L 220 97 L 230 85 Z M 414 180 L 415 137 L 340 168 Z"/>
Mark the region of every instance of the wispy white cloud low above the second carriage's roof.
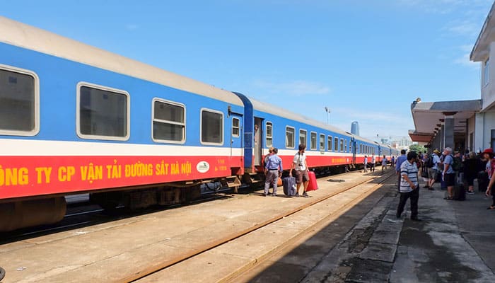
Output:
<path fill-rule="evenodd" d="M 289 81 L 274 83 L 269 81 L 255 81 L 256 88 L 264 93 L 278 93 L 289 96 L 325 95 L 330 88 L 314 81 Z"/>

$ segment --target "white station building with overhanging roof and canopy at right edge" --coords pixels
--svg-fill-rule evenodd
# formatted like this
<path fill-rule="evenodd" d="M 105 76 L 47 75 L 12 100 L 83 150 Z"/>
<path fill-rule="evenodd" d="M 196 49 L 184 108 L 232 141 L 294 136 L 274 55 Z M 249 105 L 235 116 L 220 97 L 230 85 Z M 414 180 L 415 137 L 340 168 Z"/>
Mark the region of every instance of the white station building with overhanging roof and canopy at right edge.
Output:
<path fill-rule="evenodd" d="M 433 149 L 449 146 L 455 151 L 495 149 L 495 3 L 484 21 L 470 60 L 481 64 L 481 99 L 421 102 L 411 104 L 416 129 L 409 130 L 412 141 Z"/>

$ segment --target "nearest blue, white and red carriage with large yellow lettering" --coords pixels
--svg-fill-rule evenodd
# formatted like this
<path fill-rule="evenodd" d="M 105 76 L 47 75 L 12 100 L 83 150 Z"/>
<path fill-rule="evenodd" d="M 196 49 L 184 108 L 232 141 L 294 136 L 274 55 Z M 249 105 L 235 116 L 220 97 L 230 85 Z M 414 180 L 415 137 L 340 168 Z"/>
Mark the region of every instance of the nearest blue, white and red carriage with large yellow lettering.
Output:
<path fill-rule="evenodd" d="M 240 184 L 238 96 L 4 17 L 0 30 L 0 231 L 59 221 L 70 194 L 140 208 Z"/>

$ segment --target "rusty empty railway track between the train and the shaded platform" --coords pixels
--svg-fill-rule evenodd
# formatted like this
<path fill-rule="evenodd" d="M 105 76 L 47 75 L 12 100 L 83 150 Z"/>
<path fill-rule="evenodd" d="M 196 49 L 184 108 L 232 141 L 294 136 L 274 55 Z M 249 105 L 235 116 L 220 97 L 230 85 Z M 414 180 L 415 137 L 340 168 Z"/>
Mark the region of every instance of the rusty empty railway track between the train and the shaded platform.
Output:
<path fill-rule="evenodd" d="M 334 176 L 334 177 L 336 177 L 336 176 Z M 322 204 L 324 202 L 328 202 L 329 200 L 331 200 L 332 198 L 334 198 L 338 195 L 342 195 L 345 192 L 348 192 L 349 190 L 353 190 L 356 187 L 362 186 L 364 184 L 368 184 L 368 183 L 373 182 L 373 181 L 375 181 L 375 184 L 373 184 L 372 187 L 369 187 L 366 192 L 374 191 L 374 190 L 376 190 L 377 187 L 380 187 L 386 180 L 388 180 L 389 178 L 392 178 L 392 177 L 395 177 L 395 174 L 388 173 L 388 175 L 384 175 L 384 176 L 381 176 L 381 177 L 376 178 L 376 179 L 364 180 L 360 183 L 357 183 L 354 185 L 349 185 L 347 187 L 343 187 L 342 189 L 337 190 L 335 192 L 332 192 L 329 195 L 325 195 L 324 197 L 318 197 L 315 200 L 310 200 L 309 202 L 307 202 L 307 203 L 305 203 L 299 207 L 296 207 L 295 209 L 291 209 L 290 211 L 282 212 L 281 214 L 277 214 L 275 216 L 272 216 L 262 223 L 259 223 L 255 226 L 252 226 L 252 227 L 245 229 L 243 231 L 240 231 L 238 233 L 233 233 L 233 234 L 227 235 L 223 238 L 219 238 L 214 242 L 211 242 L 211 243 L 208 243 L 204 246 L 196 248 L 193 251 L 190 251 L 188 253 L 183 253 L 181 255 L 176 256 L 175 258 L 168 258 L 166 260 L 163 260 L 162 262 L 153 262 L 153 267 L 149 267 L 146 270 L 142 270 L 141 272 L 137 272 L 136 274 L 134 274 L 132 276 L 125 277 L 125 278 L 119 280 L 118 282 L 140 282 L 140 283 L 142 283 L 142 282 L 161 282 L 161 279 L 163 279 L 163 278 L 170 278 L 170 274 L 169 274 L 170 272 L 176 272 L 177 269 L 180 270 L 181 267 L 177 267 L 177 268 L 175 268 L 174 271 L 170 271 L 170 272 L 168 271 L 168 270 L 171 270 L 173 267 L 180 265 L 182 262 L 194 261 L 197 258 L 199 260 L 202 260 L 200 258 L 200 256 L 203 255 L 204 253 L 210 251 L 210 250 L 213 250 L 216 248 L 221 248 L 222 246 L 225 246 L 228 243 L 232 243 L 233 241 L 240 239 L 242 237 L 248 236 L 248 235 L 250 235 L 250 233 L 253 233 L 259 229 L 262 229 L 264 227 L 268 227 L 270 225 L 274 225 L 274 224 L 276 224 L 277 221 L 279 221 L 281 219 L 288 219 L 291 216 L 296 216 L 298 213 L 303 212 L 305 209 L 313 207 L 317 204 Z M 342 180 L 332 178 L 332 180 L 329 180 L 329 181 L 337 181 L 340 183 L 340 181 L 342 181 Z M 360 200 L 361 199 L 359 199 L 359 201 Z M 354 204 L 356 204 L 356 200 L 351 200 L 351 201 L 345 203 L 344 205 L 342 205 L 342 207 L 340 207 L 340 209 L 347 209 L 348 207 L 350 207 Z M 293 237 L 291 239 L 291 241 L 286 242 L 284 245 L 284 248 L 286 248 L 286 245 L 291 244 L 291 242 L 296 241 L 297 238 L 300 238 L 301 236 L 303 236 L 303 233 L 310 233 L 310 231 L 312 231 L 312 229 L 315 226 L 320 225 L 322 222 L 326 221 L 327 218 L 328 217 L 320 219 L 320 221 L 317 221 L 314 224 L 306 227 L 300 234 L 298 234 L 298 236 Z M 231 249 L 231 248 L 229 248 L 229 249 Z M 274 248 L 269 253 L 262 255 L 262 257 L 260 257 L 258 260 L 255 260 L 255 262 L 252 262 L 251 264 L 246 265 L 243 268 L 240 268 L 240 270 L 235 270 L 235 272 L 228 273 L 220 281 L 221 282 L 236 282 L 235 278 L 240 277 L 241 275 L 243 275 L 244 272 L 248 272 L 249 270 L 252 270 L 253 268 L 257 267 L 258 265 L 260 265 L 263 262 L 263 260 L 269 258 L 269 256 L 273 255 L 274 253 L 278 252 L 279 250 L 281 250 L 281 248 Z M 186 265 L 190 265 L 190 264 L 186 264 Z M 187 268 L 187 267 L 185 267 L 185 268 Z"/>

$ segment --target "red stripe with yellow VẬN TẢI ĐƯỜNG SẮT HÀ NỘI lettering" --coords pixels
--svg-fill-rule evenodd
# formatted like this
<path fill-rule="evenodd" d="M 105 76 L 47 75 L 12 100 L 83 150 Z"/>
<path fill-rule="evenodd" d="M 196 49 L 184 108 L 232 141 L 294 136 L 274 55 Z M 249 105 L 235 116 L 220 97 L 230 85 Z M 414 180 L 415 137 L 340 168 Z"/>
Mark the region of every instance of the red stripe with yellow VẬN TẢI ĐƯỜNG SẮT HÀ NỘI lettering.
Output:
<path fill-rule="evenodd" d="M 3 156 L 0 199 L 219 178 L 241 156 Z"/>

